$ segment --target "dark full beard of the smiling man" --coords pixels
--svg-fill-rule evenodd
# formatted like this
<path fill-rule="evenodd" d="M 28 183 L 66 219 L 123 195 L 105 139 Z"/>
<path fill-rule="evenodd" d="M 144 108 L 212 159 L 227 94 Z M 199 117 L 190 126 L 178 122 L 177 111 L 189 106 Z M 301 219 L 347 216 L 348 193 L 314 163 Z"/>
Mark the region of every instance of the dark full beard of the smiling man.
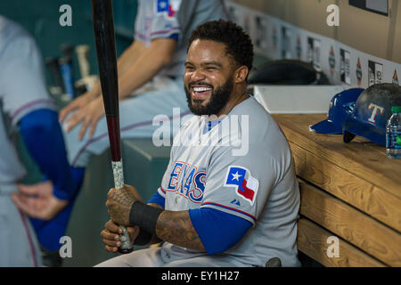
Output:
<path fill-rule="evenodd" d="M 191 86 L 192 85 L 208 85 L 212 87 L 212 93 L 210 94 L 209 102 L 202 106 L 201 103 L 203 100 L 193 100 L 191 97 Z M 217 115 L 218 111 L 222 110 L 225 107 L 225 104 L 228 102 L 228 98 L 230 94 L 233 92 L 233 77 L 228 78 L 225 81 L 224 85 L 217 86 L 216 90 L 212 85 L 205 84 L 202 82 L 192 82 L 188 86 L 185 85 L 185 94 L 186 101 L 188 102 L 188 107 L 192 111 L 193 114 L 202 116 L 202 115 Z"/>

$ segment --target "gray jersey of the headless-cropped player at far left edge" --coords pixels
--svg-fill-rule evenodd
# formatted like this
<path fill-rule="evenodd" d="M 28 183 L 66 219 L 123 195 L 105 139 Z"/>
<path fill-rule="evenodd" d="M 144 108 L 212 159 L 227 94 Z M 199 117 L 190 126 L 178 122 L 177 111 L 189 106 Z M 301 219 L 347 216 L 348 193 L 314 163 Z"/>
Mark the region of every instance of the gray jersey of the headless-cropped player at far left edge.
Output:
<path fill-rule="evenodd" d="M 0 192 L 16 191 L 26 171 L 11 133 L 20 118 L 40 108 L 55 109 L 47 93 L 42 56 L 20 25 L 0 15 Z"/>

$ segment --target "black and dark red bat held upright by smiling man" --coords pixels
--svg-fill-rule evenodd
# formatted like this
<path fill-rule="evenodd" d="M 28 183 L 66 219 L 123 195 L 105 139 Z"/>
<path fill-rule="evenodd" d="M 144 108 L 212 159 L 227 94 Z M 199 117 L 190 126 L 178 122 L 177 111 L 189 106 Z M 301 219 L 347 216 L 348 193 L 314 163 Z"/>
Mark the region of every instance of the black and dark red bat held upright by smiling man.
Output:
<path fill-rule="evenodd" d="M 111 0 L 92 0 L 92 16 L 99 77 L 109 132 L 114 187 L 121 189 L 124 187 L 124 175 L 119 133 L 119 81 Z M 124 226 L 120 227 L 123 233 L 120 235 L 121 246 L 119 252 L 129 253 L 133 250 L 133 247 L 129 240 L 127 229 Z"/>

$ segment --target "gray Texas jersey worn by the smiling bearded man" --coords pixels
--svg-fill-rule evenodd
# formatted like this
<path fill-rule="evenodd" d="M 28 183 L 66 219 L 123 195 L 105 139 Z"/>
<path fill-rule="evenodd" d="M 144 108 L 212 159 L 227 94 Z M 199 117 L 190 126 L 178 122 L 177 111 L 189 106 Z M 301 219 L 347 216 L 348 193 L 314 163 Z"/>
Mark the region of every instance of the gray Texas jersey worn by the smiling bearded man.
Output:
<path fill-rule="evenodd" d="M 207 133 L 204 124 L 205 118 L 196 116 L 175 137 L 158 190 L 165 208 L 216 208 L 240 216 L 254 226 L 223 255 L 262 266 L 278 256 L 283 266 L 299 266 L 299 185 L 279 126 L 253 97 Z M 169 256 L 202 255 L 170 243 L 163 248 Z"/>

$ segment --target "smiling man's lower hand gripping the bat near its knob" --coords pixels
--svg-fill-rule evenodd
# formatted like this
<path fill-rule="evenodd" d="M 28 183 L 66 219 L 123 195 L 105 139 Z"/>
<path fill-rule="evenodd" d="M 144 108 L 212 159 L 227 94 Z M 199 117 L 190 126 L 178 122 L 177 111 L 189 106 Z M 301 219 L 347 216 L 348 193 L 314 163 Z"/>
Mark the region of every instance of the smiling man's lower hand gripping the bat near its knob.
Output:
<path fill-rule="evenodd" d="M 134 241 L 139 234 L 138 226 L 127 226 L 126 227 L 129 240 L 131 244 L 134 245 Z M 110 252 L 117 252 L 121 246 L 121 241 L 119 241 L 119 234 L 122 233 L 121 228 L 114 224 L 111 220 L 104 224 L 104 230 L 101 232 L 102 241 L 104 243 L 104 248 Z"/>

